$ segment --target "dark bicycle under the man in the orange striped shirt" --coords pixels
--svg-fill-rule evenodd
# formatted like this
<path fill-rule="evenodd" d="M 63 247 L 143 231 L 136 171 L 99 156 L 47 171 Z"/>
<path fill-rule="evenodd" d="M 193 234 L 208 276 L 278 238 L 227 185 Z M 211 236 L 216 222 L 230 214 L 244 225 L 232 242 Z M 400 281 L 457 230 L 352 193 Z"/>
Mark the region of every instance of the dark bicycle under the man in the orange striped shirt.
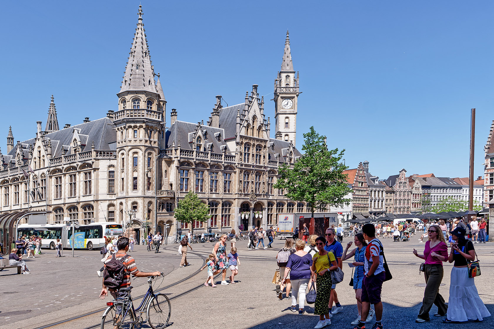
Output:
<path fill-rule="evenodd" d="M 134 308 L 130 296 L 132 287 L 119 289 L 120 292 L 128 292 L 128 297 L 119 297 L 106 303 L 108 307 L 103 312 L 100 328 L 139 328 L 143 323 L 143 313 L 146 317 L 144 321 L 147 321 L 153 329 L 165 328 L 170 320 L 171 303 L 164 293 L 154 293 L 152 284 L 154 278 L 154 276 L 148 277 L 149 289 L 137 308 Z"/>

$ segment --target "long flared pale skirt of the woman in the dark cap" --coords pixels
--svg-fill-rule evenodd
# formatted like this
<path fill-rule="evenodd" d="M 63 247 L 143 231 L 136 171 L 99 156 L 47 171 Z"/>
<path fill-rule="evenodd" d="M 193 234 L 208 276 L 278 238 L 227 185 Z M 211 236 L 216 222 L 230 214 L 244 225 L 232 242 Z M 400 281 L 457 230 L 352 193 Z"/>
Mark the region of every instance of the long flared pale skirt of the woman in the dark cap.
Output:
<path fill-rule="evenodd" d="M 468 277 L 468 268 L 453 267 L 451 270 L 448 320 L 482 320 L 483 317 L 488 316 L 491 316 L 491 313 L 479 297 L 474 278 Z"/>

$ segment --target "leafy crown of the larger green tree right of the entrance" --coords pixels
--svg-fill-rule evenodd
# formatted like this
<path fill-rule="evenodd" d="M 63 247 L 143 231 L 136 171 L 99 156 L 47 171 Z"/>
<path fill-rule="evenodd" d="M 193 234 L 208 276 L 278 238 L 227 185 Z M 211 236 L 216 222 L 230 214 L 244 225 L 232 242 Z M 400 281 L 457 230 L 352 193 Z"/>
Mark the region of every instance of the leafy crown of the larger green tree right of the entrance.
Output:
<path fill-rule="evenodd" d="M 347 175 L 343 174 L 348 167 L 341 163 L 345 150 L 328 150 L 326 138 L 310 127 L 310 131 L 304 134 L 302 151 L 304 153 L 293 169 L 286 163 L 280 167 L 274 187 L 284 189 L 285 197 L 290 200 L 305 201 L 311 208 L 312 217 L 314 209 L 349 204 L 351 200 L 345 196 L 351 189 Z"/>

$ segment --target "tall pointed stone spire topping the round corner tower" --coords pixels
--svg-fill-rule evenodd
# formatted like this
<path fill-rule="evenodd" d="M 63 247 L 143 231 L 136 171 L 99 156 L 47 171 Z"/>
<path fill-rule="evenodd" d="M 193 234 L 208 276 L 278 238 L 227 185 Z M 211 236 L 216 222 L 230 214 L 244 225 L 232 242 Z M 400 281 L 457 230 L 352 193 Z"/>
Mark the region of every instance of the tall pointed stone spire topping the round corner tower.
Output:
<path fill-rule="evenodd" d="M 142 24 L 143 12 L 141 5 L 139 5 L 139 12 L 137 15 L 137 29 L 135 29 L 132 47 L 130 47 L 120 92 L 127 90 L 145 90 L 156 93 L 154 69 L 149 55 L 144 24 Z"/>

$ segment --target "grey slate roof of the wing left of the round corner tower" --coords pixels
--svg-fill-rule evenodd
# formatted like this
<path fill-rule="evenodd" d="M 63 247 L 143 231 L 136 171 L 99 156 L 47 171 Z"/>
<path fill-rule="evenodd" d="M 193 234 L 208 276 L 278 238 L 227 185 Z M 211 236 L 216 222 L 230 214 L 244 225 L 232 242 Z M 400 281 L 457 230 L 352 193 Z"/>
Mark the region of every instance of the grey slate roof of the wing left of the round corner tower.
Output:
<path fill-rule="evenodd" d="M 107 117 L 81 123 L 69 128 L 54 131 L 44 135 L 45 139 L 51 140 L 52 157 L 62 156 L 62 146 L 67 150 L 66 154 L 72 154 L 72 138 L 74 137 L 74 129 L 78 130 L 79 137 L 82 143 L 82 152 L 90 151 L 91 144 L 94 141 L 94 149 L 98 150 L 116 150 L 117 132 L 115 124 Z M 28 147 L 30 144 L 35 144 L 36 138 L 22 142 L 24 157 L 29 154 Z M 85 146 L 84 146 L 85 144 Z M 8 153 L 11 157 L 15 157 L 17 153 L 17 144 Z M 5 158 L 5 156 L 4 156 Z"/>

